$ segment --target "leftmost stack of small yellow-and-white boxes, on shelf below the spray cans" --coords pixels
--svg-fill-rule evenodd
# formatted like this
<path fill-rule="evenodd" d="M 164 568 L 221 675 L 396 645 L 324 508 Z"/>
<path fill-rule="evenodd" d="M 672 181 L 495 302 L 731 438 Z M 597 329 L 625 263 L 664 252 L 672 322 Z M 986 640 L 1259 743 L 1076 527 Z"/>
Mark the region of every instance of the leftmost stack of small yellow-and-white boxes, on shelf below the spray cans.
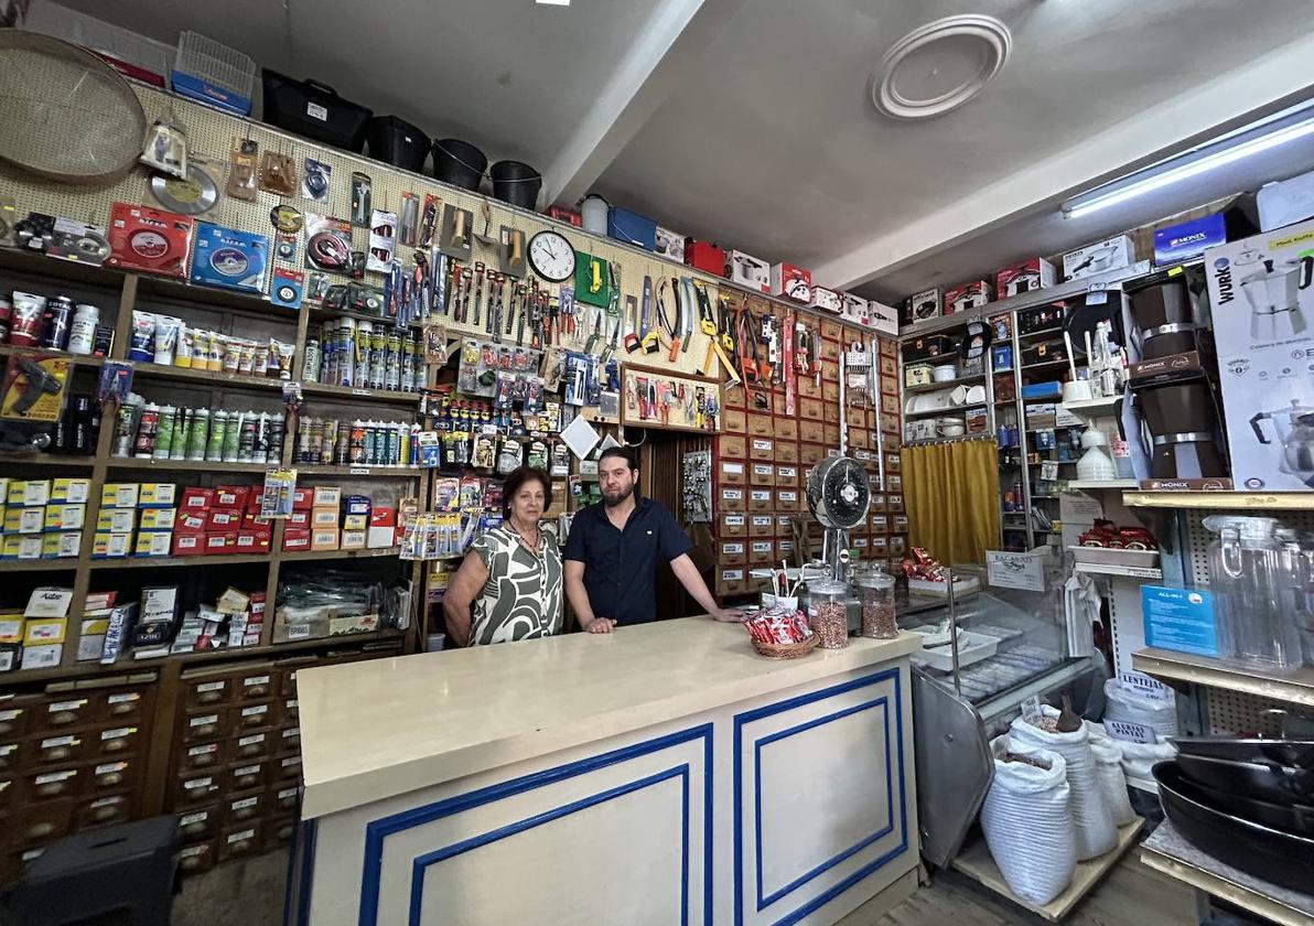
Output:
<path fill-rule="evenodd" d="M 89 490 L 91 479 L 0 478 L 5 502 L 0 560 L 75 558 Z"/>

